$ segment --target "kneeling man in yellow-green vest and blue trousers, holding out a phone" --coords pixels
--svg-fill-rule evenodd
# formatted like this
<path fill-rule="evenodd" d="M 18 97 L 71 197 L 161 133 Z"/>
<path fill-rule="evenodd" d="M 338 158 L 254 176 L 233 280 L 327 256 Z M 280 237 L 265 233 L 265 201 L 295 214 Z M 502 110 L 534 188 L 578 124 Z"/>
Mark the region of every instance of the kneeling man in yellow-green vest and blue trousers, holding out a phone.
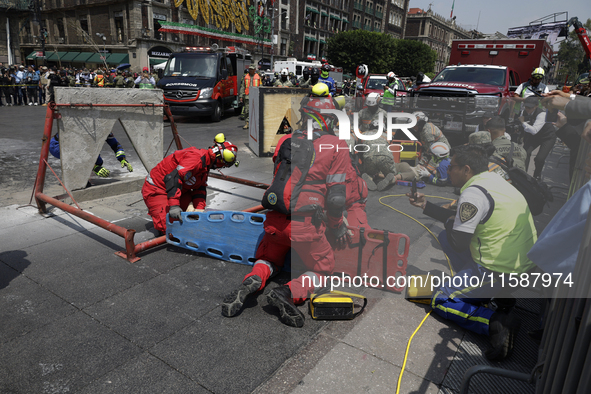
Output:
<path fill-rule="evenodd" d="M 453 212 L 426 201 L 422 193 L 409 196 L 411 205 L 445 223 L 439 243 L 455 268 L 455 276 L 494 278 L 496 275 L 527 273 L 534 264 L 527 253 L 537 236 L 529 206 L 523 195 L 499 175 L 487 171 L 487 153 L 478 145 L 452 149 L 449 177 L 461 188 L 458 210 Z M 502 242 L 499 242 L 502 240 Z M 433 311 L 470 331 L 488 335 L 489 360 L 507 357 L 513 348 L 520 322 L 510 313 L 482 306 L 501 291 L 490 281 L 475 286 L 472 281 L 452 279 L 432 297 Z M 469 282 L 469 283 L 467 283 Z"/>

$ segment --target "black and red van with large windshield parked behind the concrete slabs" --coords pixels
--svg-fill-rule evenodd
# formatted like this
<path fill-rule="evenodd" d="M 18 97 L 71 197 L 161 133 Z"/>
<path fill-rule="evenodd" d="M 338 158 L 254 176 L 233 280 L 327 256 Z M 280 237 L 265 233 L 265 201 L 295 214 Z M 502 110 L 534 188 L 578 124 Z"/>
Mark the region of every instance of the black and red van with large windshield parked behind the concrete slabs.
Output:
<path fill-rule="evenodd" d="M 251 55 L 244 49 L 186 48 L 170 55 L 157 87 L 173 115 L 211 116 L 241 110 L 238 101 L 244 69 Z"/>

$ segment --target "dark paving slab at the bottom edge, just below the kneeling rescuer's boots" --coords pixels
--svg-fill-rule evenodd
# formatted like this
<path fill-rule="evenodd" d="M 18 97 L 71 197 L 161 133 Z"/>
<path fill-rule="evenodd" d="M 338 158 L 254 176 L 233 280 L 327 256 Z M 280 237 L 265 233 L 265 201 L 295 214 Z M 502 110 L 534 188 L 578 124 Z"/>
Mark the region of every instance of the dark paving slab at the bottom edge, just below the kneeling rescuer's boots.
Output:
<path fill-rule="evenodd" d="M 150 352 L 212 392 L 250 393 L 326 324 L 287 327 L 264 293 L 252 301 L 231 319 L 216 308 Z"/>

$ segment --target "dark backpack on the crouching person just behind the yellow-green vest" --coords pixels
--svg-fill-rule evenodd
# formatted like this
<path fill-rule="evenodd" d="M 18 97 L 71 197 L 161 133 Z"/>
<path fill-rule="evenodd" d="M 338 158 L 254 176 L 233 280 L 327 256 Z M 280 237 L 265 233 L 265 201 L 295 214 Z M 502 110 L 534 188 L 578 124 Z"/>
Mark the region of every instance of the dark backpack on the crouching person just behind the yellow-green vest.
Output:
<path fill-rule="evenodd" d="M 532 215 L 539 215 L 547 202 L 554 201 L 554 196 L 546 183 L 538 181 L 520 168 L 513 167 L 513 142 L 507 162 L 494 156 L 491 159 L 509 175 L 511 184 L 523 194 Z"/>

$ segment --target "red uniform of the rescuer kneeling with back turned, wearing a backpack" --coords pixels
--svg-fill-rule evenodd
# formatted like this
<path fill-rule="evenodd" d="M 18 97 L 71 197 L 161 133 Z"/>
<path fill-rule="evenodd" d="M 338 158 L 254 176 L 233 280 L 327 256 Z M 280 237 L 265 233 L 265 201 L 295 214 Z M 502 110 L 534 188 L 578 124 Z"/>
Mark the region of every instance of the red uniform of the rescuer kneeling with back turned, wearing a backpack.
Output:
<path fill-rule="evenodd" d="M 290 137 L 286 135 L 279 141 L 275 153 L 282 143 L 290 143 Z M 325 235 L 326 224 L 320 222 L 314 225 L 310 212 L 302 214 L 301 210 L 309 205 L 327 208 L 325 200 L 329 189 L 334 187 L 337 188 L 334 190 L 341 190 L 345 197 L 347 165 L 350 165 L 347 144 L 334 135 L 324 134 L 315 139 L 314 149 L 314 163 L 308 171 L 294 212 L 291 216 L 276 211 L 267 213 L 265 235 L 256 253 L 257 262 L 252 272 L 244 278 L 259 276 L 262 279 L 262 289 L 267 280 L 276 273 L 275 267 L 283 266 L 285 256 L 290 248 L 293 248 L 303 260 L 305 267 L 310 270 L 288 283 L 296 304 L 304 302 L 315 290 L 313 283 L 319 283 L 319 278 L 314 279 L 312 276 L 330 275 L 335 263 L 332 247 Z M 330 228 L 336 229 L 342 224 L 342 216 L 327 215 L 327 223 Z M 304 277 L 311 280 L 304 280 Z"/>

